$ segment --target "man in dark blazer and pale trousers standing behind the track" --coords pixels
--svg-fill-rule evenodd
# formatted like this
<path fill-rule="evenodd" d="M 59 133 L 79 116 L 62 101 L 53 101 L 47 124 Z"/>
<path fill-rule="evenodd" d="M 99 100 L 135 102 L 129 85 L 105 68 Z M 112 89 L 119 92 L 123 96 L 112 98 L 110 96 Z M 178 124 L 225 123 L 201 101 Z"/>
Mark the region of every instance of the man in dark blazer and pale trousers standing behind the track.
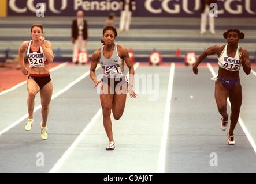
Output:
<path fill-rule="evenodd" d="M 78 53 L 80 51 L 86 51 L 87 45 L 87 21 L 83 18 L 83 11 L 77 11 L 76 19 L 72 23 L 72 43 L 73 47 L 73 58 L 72 62 L 78 64 Z M 85 63 L 82 63 L 85 64 Z"/>

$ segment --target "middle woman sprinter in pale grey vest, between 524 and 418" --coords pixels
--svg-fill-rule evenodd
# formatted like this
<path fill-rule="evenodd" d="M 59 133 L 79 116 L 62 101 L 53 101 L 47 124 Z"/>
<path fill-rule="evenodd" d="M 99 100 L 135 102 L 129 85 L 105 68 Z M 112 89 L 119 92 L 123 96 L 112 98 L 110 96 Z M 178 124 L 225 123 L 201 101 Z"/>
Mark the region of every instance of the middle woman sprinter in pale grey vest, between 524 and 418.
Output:
<path fill-rule="evenodd" d="M 134 68 L 129 57 L 127 48 L 114 43 L 117 31 L 114 27 L 108 26 L 103 29 L 103 46 L 92 54 L 90 76 L 94 82 L 94 87 L 99 83 L 103 114 L 103 125 L 109 138 L 109 145 L 106 150 L 114 150 L 115 143 L 112 132 L 111 112 L 114 119 L 119 120 L 124 112 L 127 92 L 131 98 L 137 95 L 133 91 Z M 129 68 L 129 83 L 124 73 L 124 62 Z M 100 63 L 103 69 L 103 78 L 97 79 L 95 69 Z"/>

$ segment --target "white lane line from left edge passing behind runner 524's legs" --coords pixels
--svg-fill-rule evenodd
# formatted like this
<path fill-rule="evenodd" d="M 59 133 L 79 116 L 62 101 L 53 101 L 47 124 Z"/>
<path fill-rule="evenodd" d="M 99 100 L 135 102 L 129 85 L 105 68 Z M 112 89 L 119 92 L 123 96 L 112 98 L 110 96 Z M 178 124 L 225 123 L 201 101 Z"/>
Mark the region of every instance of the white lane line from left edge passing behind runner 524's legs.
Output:
<path fill-rule="evenodd" d="M 97 68 L 99 68 L 99 64 L 97 66 Z M 96 68 L 96 69 L 97 69 Z M 64 89 L 58 91 L 57 93 L 55 93 L 52 97 L 51 100 L 53 100 L 54 98 L 58 97 L 59 95 L 61 95 L 62 93 L 64 93 L 65 91 L 67 91 L 68 89 L 70 89 L 72 86 L 74 86 L 77 82 L 81 81 L 82 79 L 86 78 L 86 76 L 88 76 L 90 74 L 90 71 L 87 71 L 86 73 L 84 73 L 83 75 L 81 75 L 79 78 L 77 78 L 75 81 L 69 83 L 69 85 L 67 85 L 66 87 L 64 87 Z M 42 108 L 41 105 L 38 105 L 34 108 L 34 112 L 36 112 L 36 110 Z M 11 125 L 9 125 L 8 127 L 6 127 L 5 129 L 3 129 L 0 132 L 0 135 L 2 135 L 3 133 L 5 133 L 6 131 L 9 131 L 9 129 L 13 128 L 14 126 L 16 126 L 17 124 L 19 124 L 21 121 L 23 121 L 25 118 L 28 117 L 28 113 L 25 114 L 23 117 L 19 118 L 17 121 L 13 122 Z"/>

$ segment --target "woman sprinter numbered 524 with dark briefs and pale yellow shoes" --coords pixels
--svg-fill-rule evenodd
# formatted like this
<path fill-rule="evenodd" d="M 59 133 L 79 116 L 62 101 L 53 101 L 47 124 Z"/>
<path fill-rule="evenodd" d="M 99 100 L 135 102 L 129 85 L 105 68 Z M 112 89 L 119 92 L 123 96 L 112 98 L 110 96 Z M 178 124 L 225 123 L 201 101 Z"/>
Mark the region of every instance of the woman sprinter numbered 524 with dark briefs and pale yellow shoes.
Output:
<path fill-rule="evenodd" d="M 31 26 L 32 40 L 24 41 L 18 49 L 18 59 L 21 71 L 28 75 L 28 120 L 25 130 L 30 131 L 34 123 L 33 111 L 35 106 L 36 94 L 40 91 L 42 105 L 42 122 L 40 123 L 41 137 L 47 139 L 47 117 L 49 114 L 49 104 L 53 94 L 53 82 L 49 72 L 49 63 L 53 62 L 53 51 L 51 43 L 43 37 L 43 26 L 34 24 Z M 24 52 L 27 52 L 29 70 L 24 64 Z"/>

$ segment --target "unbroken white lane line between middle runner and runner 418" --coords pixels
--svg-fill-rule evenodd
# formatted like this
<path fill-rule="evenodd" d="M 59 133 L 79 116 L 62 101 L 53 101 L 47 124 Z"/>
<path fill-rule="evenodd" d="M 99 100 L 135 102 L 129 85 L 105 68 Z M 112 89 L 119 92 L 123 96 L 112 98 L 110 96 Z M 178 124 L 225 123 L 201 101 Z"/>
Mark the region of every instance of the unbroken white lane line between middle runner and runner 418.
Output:
<path fill-rule="evenodd" d="M 170 102 L 172 101 L 174 73 L 175 73 L 175 63 L 172 63 L 170 65 L 170 75 L 169 75 L 168 91 L 167 91 L 167 98 L 166 98 L 164 127 L 163 127 L 163 133 L 162 133 L 161 150 L 160 150 L 159 160 L 158 160 L 158 170 L 157 170 L 158 173 L 164 173 L 165 171 L 166 143 L 167 143 L 167 135 L 169 130 Z"/>

